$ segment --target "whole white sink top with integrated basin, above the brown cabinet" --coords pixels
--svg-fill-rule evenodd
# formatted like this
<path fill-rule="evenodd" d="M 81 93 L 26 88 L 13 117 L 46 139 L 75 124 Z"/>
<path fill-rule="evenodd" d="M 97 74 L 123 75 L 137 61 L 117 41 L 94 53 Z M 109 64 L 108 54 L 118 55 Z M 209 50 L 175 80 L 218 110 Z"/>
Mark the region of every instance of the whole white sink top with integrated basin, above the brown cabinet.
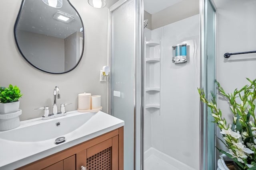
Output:
<path fill-rule="evenodd" d="M 122 126 L 124 121 L 102 111 L 21 121 L 16 129 L 0 131 L 0 170 L 16 169 Z M 66 141 L 56 145 L 58 137 Z"/>

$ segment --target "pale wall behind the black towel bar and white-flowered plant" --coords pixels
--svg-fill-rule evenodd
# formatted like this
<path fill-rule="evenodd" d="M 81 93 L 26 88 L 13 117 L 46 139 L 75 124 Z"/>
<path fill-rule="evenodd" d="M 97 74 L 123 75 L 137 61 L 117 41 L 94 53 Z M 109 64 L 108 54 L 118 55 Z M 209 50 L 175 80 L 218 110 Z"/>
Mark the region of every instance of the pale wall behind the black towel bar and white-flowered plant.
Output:
<path fill-rule="evenodd" d="M 228 93 L 248 84 L 246 77 L 256 78 L 256 53 L 233 55 L 229 59 L 224 53 L 256 50 L 256 1 L 214 0 L 217 6 L 217 80 Z M 232 113 L 226 100 L 218 97 L 218 107 L 231 123 Z M 220 135 L 219 132 L 217 132 Z M 223 146 L 217 143 L 217 147 Z M 218 153 L 218 152 L 217 152 Z"/>

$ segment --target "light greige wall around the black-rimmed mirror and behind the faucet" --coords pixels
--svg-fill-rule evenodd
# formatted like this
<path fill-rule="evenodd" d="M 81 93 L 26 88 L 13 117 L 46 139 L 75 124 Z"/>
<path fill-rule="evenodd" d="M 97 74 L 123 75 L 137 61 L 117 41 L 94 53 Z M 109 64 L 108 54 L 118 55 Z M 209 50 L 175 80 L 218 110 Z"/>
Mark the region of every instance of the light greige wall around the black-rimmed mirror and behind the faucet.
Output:
<path fill-rule="evenodd" d="M 108 9 L 91 7 L 86 0 L 70 0 L 84 23 L 85 48 L 80 64 L 66 74 L 54 75 L 36 70 L 19 54 L 14 41 L 13 27 L 20 0 L 1 1 L 0 6 L 0 86 L 14 84 L 23 94 L 20 99 L 21 120 L 41 117 L 42 106 L 52 106 L 54 86 L 59 86 L 61 103 L 72 103 L 66 110 L 78 107 L 78 93 L 90 92 L 102 96 L 103 111 L 107 111 L 107 84 L 99 82 L 99 72 L 107 64 Z M 99 50 L 100 49 L 100 50 Z"/>

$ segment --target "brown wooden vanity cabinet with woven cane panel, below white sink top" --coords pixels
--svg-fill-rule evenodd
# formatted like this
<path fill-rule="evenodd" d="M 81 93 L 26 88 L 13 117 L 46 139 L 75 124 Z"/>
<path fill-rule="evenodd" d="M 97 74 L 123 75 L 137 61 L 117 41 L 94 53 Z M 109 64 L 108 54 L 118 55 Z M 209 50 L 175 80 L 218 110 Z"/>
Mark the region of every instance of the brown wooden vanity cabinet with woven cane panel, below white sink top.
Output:
<path fill-rule="evenodd" d="M 124 127 L 80 143 L 17 170 L 123 170 Z"/>

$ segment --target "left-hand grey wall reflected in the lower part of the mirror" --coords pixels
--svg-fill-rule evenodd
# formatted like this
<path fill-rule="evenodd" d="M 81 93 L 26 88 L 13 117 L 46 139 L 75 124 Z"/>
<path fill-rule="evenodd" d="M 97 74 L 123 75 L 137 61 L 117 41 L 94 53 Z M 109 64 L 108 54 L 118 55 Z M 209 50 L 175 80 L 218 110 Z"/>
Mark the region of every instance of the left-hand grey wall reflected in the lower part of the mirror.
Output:
<path fill-rule="evenodd" d="M 64 39 L 22 30 L 16 35 L 20 49 L 30 63 L 42 70 L 64 72 Z"/>

